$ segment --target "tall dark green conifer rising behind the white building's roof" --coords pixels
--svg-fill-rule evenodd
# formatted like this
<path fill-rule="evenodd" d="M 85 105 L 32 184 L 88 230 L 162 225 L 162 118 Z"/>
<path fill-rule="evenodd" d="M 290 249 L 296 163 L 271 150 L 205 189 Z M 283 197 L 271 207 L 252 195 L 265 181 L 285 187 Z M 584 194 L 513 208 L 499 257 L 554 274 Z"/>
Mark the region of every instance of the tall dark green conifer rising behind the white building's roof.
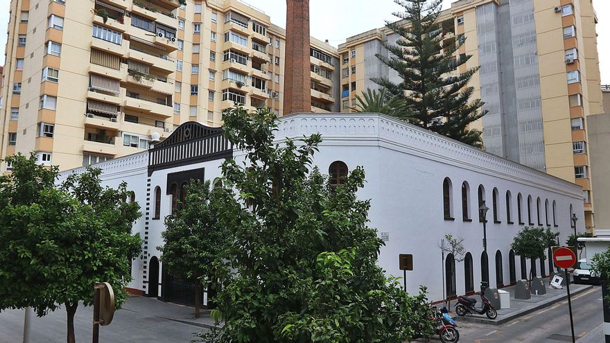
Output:
<path fill-rule="evenodd" d="M 481 118 L 485 111 L 480 99 L 470 100 L 474 88 L 469 80 L 478 68 L 458 73 L 470 55 L 456 56 L 464 44 L 463 36 L 447 39 L 453 28 L 451 21 L 440 22 L 442 0 L 397 0 L 404 12 L 396 12 L 401 20 L 388 22 L 387 28 L 397 33 L 396 44 L 384 42 L 392 53 L 390 57 L 377 54 L 377 58 L 397 71 L 401 82 L 389 78 L 373 78 L 387 88 L 392 96 L 404 100 L 412 112 L 415 125 L 446 137 L 481 147 L 481 132 L 469 130 L 469 124 Z M 444 120 L 439 120 L 444 118 Z"/>

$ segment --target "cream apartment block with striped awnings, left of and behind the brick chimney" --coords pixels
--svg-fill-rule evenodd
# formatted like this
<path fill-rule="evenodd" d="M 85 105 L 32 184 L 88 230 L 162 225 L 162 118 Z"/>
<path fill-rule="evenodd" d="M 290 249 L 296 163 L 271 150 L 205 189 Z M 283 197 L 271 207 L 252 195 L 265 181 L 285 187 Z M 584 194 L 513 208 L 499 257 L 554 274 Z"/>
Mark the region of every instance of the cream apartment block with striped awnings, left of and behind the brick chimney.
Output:
<path fill-rule="evenodd" d="M 286 33 L 237 0 L 12 0 L 0 157 L 61 170 L 147 149 L 235 102 L 283 114 Z M 337 50 L 311 39 L 312 112 L 338 111 Z M 0 173 L 10 170 L 0 164 Z"/>

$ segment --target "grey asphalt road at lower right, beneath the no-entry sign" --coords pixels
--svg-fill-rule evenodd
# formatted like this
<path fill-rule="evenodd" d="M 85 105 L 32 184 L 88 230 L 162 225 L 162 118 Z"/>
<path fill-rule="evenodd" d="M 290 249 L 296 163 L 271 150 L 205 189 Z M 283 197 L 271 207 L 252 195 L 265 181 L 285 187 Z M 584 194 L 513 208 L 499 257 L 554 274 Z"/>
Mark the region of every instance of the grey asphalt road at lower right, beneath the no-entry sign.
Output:
<path fill-rule="evenodd" d="M 604 322 L 600 286 L 572 297 L 576 339 Z M 460 342 L 571 342 L 568 300 L 561 301 L 503 325 L 458 322 Z M 435 340 L 440 342 L 439 340 Z M 431 340 L 431 342 L 433 342 Z"/>

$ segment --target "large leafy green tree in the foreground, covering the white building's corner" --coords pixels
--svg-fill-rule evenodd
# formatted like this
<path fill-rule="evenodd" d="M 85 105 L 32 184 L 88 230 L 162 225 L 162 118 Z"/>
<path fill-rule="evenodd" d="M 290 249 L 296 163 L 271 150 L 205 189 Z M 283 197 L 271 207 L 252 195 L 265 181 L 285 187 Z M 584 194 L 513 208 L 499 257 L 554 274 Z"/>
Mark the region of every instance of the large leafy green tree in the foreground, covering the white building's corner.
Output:
<path fill-rule="evenodd" d="M 273 143 L 276 116 L 225 112 L 225 135 L 248 163 L 223 164 L 228 263 L 205 342 L 403 342 L 427 335 L 424 292 L 410 297 L 377 265 L 383 242 L 358 200 L 364 170 L 330 185 L 316 168 L 319 134 Z"/>

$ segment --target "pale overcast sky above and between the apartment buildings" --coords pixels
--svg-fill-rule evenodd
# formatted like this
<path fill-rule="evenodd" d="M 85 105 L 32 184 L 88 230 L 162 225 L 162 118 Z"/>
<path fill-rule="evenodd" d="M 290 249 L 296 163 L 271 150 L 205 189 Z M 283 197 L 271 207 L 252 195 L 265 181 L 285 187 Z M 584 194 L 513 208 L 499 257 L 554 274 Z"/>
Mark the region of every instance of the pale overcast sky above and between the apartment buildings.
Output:
<path fill-rule="evenodd" d="M 329 39 L 337 46 L 345 38 L 379 28 L 385 20 L 392 20 L 392 12 L 400 10 L 393 0 L 310 0 L 311 35 L 318 39 Z M 286 24 L 286 1 L 284 0 L 245 0 L 262 10 L 271 20 L 284 27 Z M 444 0 L 450 6 L 452 0 Z M 8 25 L 8 6 L 10 0 L 0 0 L 0 32 Z M 374 3 L 374 6 L 372 4 Z M 559 3 L 559 1 L 557 1 Z M 600 61 L 610 61 L 610 1 L 593 0 L 598 13 L 598 50 Z M 6 35 L 0 34 L 0 65 L 4 62 Z M 610 62 L 600 64 L 602 84 L 610 84 Z"/>

